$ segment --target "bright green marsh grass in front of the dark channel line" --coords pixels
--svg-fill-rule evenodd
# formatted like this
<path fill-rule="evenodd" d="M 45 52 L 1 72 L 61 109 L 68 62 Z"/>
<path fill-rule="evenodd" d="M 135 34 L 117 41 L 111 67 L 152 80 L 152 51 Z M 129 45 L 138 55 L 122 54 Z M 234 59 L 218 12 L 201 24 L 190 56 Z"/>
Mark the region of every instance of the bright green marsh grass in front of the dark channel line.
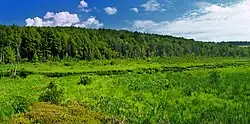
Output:
<path fill-rule="evenodd" d="M 217 76 L 211 76 L 216 72 Z M 23 96 L 37 102 L 53 81 L 65 90 L 64 104 L 77 101 L 107 116 L 129 123 L 248 123 L 250 114 L 250 67 L 193 70 L 153 74 L 97 76 L 78 85 L 79 76 L 0 79 L 0 117 L 8 119 L 10 100 Z M 213 78 L 218 81 L 213 82 Z M 63 104 L 62 103 L 62 104 Z"/>

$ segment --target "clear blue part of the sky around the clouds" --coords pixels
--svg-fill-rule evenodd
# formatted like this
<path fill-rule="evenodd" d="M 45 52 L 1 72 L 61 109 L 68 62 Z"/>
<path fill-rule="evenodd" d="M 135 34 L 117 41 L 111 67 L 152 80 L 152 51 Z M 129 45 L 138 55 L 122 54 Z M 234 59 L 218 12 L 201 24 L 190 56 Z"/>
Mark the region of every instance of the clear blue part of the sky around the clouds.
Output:
<path fill-rule="evenodd" d="M 145 4 L 147 0 L 86 0 L 88 8 L 96 7 L 100 11 L 81 12 L 78 8 L 80 0 L 2 0 L 0 8 L 1 24 L 18 24 L 25 25 L 25 19 L 34 17 L 43 17 L 47 12 L 62 12 L 77 13 L 82 19 L 95 16 L 98 20 L 105 23 L 107 28 L 125 27 L 126 23 L 131 20 L 138 19 L 154 19 L 155 21 L 173 20 L 180 17 L 183 13 L 195 7 L 195 0 L 158 0 L 157 2 L 164 4 L 163 8 L 166 12 L 138 12 L 130 11 L 131 8 L 138 8 Z M 104 12 L 105 7 L 116 7 L 118 12 L 116 15 L 108 16 Z M 111 21 L 112 20 L 112 21 Z"/>

